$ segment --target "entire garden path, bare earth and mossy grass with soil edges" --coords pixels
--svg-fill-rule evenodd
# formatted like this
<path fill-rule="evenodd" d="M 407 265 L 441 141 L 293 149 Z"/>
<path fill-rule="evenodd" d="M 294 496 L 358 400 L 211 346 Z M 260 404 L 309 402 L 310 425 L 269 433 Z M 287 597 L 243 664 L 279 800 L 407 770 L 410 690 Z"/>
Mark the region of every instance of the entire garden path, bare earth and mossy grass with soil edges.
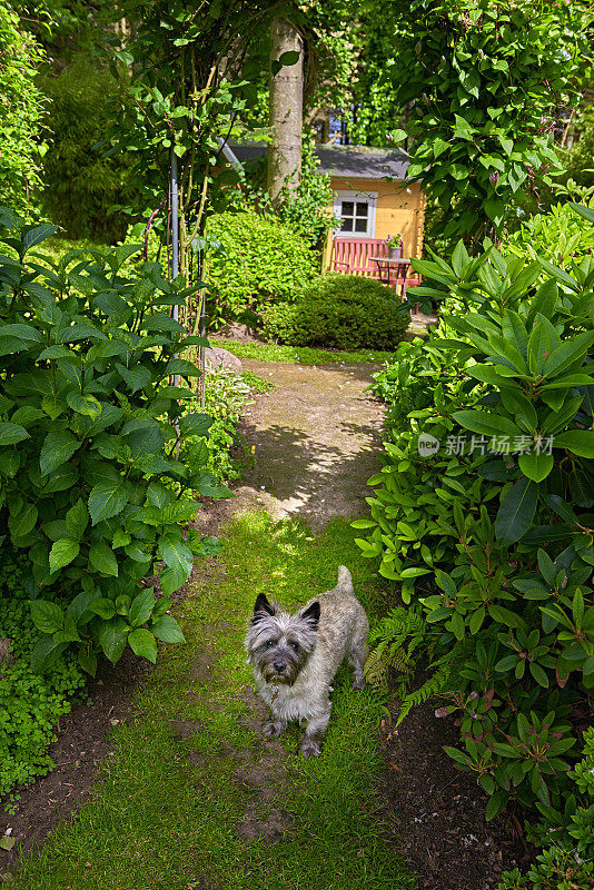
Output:
<path fill-rule="evenodd" d="M 444 758 L 448 740 L 432 708 L 394 731 L 380 700 L 355 695 L 341 670 L 321 758 L 295 756 L 297 726 L 283 740 L 261 736 L 242 652 L 257 593 L 295 609 L 347 563 L 372 620 L 385 611 L 374 566 L 341 518 L 365 511 L 383 411 L 366 392 L 374 365 L 244 366 L 275 388 L 245 413 L 249 465 L 236 497 L 199 514 L 226 546 L 196 566 L 177 605 L 188 645 L 162 653 L 132 702 L 129 693 L 103 700 L 121 665 L 103 672 L 106 684 L 93 685 L 60 733 L 57 748 L 72 750 L 51 752 L 61 769 L 27 789 L 9 817 L 24 852 L 43 850 L 19 863 L 17 847 L 0 866 L 17 871 L 19 890 L 493 888 L 505 840 L 484 825 L 468 777 Z M 138 666 L 132 660 L 128 670 Z M 97 756 L 108 749 L 98 783 Z M 83 800 L 76 819 L 63 819 Z M 48 803 L 52 818 L 38 825 Z"/>

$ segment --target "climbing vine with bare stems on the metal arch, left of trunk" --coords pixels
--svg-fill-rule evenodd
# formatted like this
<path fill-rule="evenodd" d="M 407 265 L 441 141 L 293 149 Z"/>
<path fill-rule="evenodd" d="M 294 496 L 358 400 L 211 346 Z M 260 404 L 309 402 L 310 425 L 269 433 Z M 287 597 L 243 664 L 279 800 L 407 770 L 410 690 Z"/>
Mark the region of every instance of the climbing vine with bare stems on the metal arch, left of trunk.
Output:
<path fill-rule="evenodd" d="M 129 209 L 160 222 L 164 241 L 175 158 L 179 261 L 188 280 L 201 279 L 207 218 L 224 208 L 226 186 L 238 180 L 235 170 L 218 169 L 221 146 L 240 131 L 240 116 L 257 101 L 242 67 L 273 14 L 270 0 L 206 2 L 199 14 L 191 0 L 117 3 L 115 19 L 126 17 L 130 28 L 112 52 L 118 87 L 107 138 L 115 150 L 133 156 Z M 182 307 L 186 319 L 200 312 L 199 293 L 195 305 Z"/>

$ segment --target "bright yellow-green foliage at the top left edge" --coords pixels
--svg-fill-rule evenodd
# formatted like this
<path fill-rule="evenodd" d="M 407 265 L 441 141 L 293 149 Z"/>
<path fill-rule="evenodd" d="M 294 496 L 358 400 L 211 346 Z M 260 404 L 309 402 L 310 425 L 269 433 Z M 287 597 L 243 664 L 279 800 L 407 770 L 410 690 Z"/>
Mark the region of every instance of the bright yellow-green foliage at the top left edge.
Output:
<path fill-rule="evenodd" d="M 40 186 L 43 97 L 34 83 L 42 52 L 19 17 L 0 6 L 0 204 L 29 208 Z"/>

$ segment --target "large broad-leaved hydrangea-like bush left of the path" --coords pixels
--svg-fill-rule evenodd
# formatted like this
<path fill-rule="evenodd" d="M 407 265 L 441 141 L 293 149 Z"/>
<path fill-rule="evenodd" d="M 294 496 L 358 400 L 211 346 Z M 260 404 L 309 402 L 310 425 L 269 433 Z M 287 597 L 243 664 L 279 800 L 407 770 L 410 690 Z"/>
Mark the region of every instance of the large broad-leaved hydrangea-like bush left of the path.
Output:
<path fill-rule="evenodd" d="M 24 226 L 8 210 L 0 221 L 0 515 L 38 585 L 33 668 L 48 669 L 71 644 L 90 673 L 98 653 L 116 662 L 128 644 L 155 661 L 157 639 L 184 639 L 168 597 L 194 555 L 215 546 L 186 540 L 197 503 L 185 493 L 227 493 L 204 469 L 207 451 L 191 471 L 176 459 L 211 423 L 186 413 L 188 389 L 170 385 L 172 375 L 198 375 L 175 356 L 200 339 L 169 316 L 188 288 L 158 264 L 126 276 L 133 246 L 40 264 L 32 249 L 56 227 Z M 160 600 L 139 583 L 155 561 L 165 563 Z M 55 584 L 67 604 L 41 594 Z"/>

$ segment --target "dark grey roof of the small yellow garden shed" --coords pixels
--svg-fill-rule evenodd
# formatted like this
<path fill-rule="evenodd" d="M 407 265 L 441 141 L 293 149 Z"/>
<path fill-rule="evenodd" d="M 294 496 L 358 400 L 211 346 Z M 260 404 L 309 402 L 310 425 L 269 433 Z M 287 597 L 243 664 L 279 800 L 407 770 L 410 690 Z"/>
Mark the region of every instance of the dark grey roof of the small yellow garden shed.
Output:
<path fill-rule="evenodd" d="M 230 146 L 236 158 L 245 164 L 266 155 L 266 142 L 244 142 Z M 392 176 L 406 179 L 408 159 L 397 150 L 364 146 L 316 146 L 319 172 L 354 179 L 383 179 Z"/>

